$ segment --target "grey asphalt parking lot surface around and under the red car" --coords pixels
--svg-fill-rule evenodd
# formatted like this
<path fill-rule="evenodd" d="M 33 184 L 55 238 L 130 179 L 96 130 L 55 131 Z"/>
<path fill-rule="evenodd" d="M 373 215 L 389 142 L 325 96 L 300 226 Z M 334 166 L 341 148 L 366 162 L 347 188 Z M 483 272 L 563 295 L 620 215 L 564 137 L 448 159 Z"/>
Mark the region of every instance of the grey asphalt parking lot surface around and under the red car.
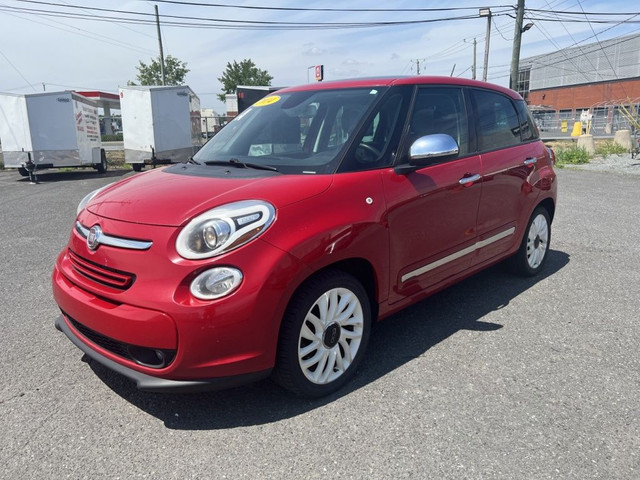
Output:
<path fill-rule="evenodd" d="M 0 478 L 640 478 L 638 176 L 559 170 L 544 275 L 494 267 L 386 319 L 309 401 L 139 393 L 55 330 L 76 206 L 132 174 L 0 171 Z"/>

